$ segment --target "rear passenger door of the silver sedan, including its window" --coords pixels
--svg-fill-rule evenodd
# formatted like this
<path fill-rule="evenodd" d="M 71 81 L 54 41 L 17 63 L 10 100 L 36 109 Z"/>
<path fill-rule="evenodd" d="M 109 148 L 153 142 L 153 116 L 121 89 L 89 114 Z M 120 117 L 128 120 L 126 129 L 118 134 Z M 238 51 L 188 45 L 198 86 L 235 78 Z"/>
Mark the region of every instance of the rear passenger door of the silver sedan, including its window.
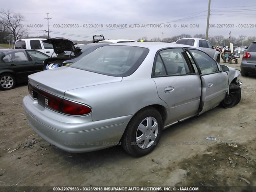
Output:
<path fill-rule="evenodd" d="M 168 124 L 198 114 L 201 81 L 188 63 L 182 48 L 160 50 L 156 54 L 152 79 L 158 96 L 169 107 Z"/>

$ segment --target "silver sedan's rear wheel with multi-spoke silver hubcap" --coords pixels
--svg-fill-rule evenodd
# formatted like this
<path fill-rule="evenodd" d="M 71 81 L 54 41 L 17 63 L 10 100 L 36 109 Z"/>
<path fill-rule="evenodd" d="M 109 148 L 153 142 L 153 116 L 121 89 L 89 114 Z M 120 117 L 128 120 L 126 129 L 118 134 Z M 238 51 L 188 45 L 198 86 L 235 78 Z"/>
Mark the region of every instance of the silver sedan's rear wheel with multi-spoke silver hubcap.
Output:
<path fill-rule="evenodd" d="M 153 107 L 137 112 L 128 123 L 122 136 L 122 147 L 132 156 L 150 153 L 158 143 L 162 133 L 162 117 Z"/>

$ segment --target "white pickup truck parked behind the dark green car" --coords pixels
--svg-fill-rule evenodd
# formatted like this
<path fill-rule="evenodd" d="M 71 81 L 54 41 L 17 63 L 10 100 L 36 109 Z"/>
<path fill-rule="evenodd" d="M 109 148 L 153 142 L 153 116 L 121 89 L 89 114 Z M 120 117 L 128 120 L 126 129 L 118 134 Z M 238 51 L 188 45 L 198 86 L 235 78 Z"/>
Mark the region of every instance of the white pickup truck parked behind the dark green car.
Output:
<path fill-rule="evenodd" d="M 54 52 L 52 44 L 44 43 L 46 39 L 41 38 L 31 38 L 31 39 L 19 39 L 16 40 L 14 49 L 34 49 L 42 53 L 52 56 Z M 53 56 L 55 56 L 54 54 Z"/>

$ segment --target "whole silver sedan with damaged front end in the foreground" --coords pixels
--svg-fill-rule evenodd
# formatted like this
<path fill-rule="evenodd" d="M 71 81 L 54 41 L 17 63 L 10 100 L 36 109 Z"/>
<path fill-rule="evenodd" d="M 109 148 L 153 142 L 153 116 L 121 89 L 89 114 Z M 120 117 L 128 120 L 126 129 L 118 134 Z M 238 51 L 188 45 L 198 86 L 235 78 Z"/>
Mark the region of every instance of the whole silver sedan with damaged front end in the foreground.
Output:
<path fill-rule="evenodd" d="M 192 46 L 110 44 L 68 67 L 30 75 L 23 107 L 30 127 L 62 150 L 121 141 L 126 152 L 143 156 L 164 128 L 218 104 L 238 104 L 239 74 Z"/>

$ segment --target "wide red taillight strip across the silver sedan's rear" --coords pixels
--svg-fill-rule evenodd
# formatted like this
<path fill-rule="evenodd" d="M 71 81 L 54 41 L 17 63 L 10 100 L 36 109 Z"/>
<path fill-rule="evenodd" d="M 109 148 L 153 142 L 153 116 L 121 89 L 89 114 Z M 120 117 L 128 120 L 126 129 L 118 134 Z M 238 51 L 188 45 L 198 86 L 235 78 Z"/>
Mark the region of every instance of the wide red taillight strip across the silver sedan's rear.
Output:
<path fill-rule="evenodd" d="M 34 99 L 38 99 L 39 104 L 62 114 L 82 116 L 90 114 L 92 111 L 89 106 L 60 98 L 30 84 L 28 84 L 28 92 Z M 43 98 L 44 100 L 42 100 Z"/>

